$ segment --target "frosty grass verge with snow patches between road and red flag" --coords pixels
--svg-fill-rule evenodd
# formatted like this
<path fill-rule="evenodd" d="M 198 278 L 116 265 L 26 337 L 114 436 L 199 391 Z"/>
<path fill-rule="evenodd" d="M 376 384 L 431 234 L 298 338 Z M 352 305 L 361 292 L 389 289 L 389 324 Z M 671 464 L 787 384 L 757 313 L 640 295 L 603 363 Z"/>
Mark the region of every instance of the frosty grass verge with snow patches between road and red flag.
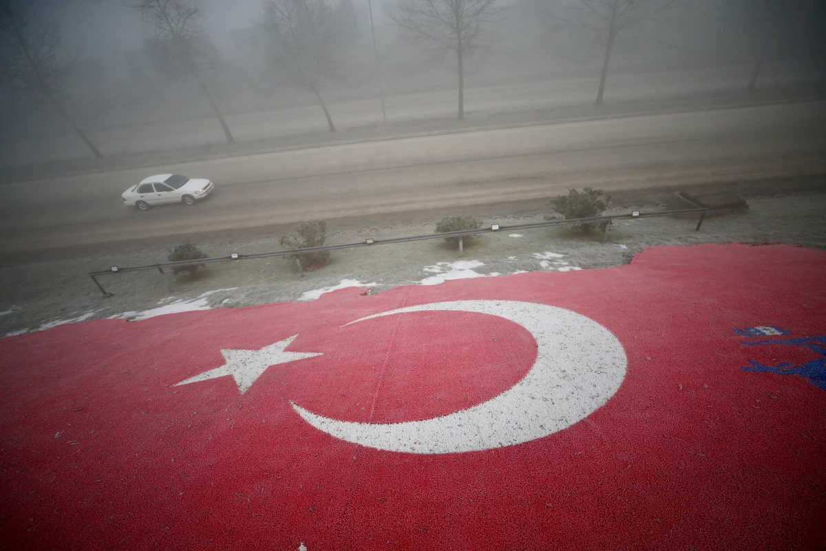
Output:
<path fill-rule="evenodd" d="M 699 232 L 693 231 L 696 222 L 691 220 L 621 221 L 613 226 L 605 244 L 597 232 L 583 236 L 567 227 L 507 231 L 507 226 L 520 221 L 541 219 L 539 203 L 536 211 L 499 216 L 476 213 L 500 223 L 505 231 L 476 240 L 465 250 L 463 259 L 443 240 L 427 240 L 341 250 L 333 255 L 332 264 L 306 273 L 304 278 L 299 277 L 291 260 L 281 258 L 211 264 L 197 279 L 182 277 L 171 287 L 157 272 L 124 273 L 101 278 L 107 290 L 114 292 L 111 298 L 103 298 L 94 287 L 86 275 L 89 270 L 163 262 L 167 249 L 175 243 L 133 245 L 119 254 L 6 264 L 0 268 L 0 335 L 20 335 L 91 319 L 138 321 L 181 311 L 310 301 L 344 287 L 382 292 L 399 285 L 438 285 L 463 278 L 605 268 L 627 264 L 632 254 L 654 245 L 778 241 L 826 249 L 826 194 L 750 198 L 749 205 L 748 214 L 706 219 Z M 644 207 L 646 211 L 662 208 Z M 353 243 L 363 235 L 382 239 L 430 233 L 434 221 L 331 227 L 328 243 Z M 280 249 L 277 235 L 194 242 L 211 256 Z"/>

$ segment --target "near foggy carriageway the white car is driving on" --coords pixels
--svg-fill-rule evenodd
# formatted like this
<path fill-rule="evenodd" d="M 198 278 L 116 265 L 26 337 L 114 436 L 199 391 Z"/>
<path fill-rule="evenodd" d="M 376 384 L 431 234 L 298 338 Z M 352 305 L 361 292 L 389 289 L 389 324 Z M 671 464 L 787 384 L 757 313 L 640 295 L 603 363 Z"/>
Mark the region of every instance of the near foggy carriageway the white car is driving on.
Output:
<path fill-rule="evenodd" d="M 0 252 L 304 220 L 826 173 L 826 102 L 636 116 L 282 151 L 0 186 Z M 194 207 L 137 211 L 151 173 L 211 178 Z"/>

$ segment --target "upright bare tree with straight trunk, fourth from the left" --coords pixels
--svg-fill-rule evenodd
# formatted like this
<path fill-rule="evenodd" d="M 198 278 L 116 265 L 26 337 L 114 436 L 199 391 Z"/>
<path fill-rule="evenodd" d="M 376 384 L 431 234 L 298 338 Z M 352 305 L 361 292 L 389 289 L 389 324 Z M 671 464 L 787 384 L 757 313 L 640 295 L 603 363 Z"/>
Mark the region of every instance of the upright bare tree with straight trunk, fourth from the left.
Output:
<path fill-rule="evenodd" d="M 465 115 L 465 59 L 501 21 L 502 10 L 499 0 L 399 0 L 390 10 L 391 21 L 411 40 L 430 45 L 438 55 L 456 54 L 460 119 Z"/>

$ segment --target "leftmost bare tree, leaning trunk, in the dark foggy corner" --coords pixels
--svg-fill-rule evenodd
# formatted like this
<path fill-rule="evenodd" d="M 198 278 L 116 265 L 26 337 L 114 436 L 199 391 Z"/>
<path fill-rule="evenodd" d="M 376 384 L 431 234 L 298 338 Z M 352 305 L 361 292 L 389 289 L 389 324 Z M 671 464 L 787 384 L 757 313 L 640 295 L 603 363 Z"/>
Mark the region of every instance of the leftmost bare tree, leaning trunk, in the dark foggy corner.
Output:
<path fill-rule="evenodd" d="M 15 93 L 39 94 L 62 115 L 92 153 L 103 154 L 74 119 L 64 110 L 58 97 L 65 95 L 64 77 L 75 64 L 66 55 L 57 26 L 36 21 L 21 2 L 0 0 L 0 80 Z"/>

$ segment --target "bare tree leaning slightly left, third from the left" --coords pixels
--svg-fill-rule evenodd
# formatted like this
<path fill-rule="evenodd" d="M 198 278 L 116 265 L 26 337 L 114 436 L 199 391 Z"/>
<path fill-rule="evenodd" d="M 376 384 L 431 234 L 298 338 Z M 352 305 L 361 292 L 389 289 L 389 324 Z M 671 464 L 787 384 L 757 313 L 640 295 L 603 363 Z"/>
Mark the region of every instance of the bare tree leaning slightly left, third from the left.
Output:
<path fill-rule="evenodd" d="M 268 33 L 273 58 L 290 76 L 309 88 L 319 103 L 330 132 L 333 117 L 319 88 L 335 69 L 335 10 L 329 0 L 264 0 L 259 21 Z"/>

